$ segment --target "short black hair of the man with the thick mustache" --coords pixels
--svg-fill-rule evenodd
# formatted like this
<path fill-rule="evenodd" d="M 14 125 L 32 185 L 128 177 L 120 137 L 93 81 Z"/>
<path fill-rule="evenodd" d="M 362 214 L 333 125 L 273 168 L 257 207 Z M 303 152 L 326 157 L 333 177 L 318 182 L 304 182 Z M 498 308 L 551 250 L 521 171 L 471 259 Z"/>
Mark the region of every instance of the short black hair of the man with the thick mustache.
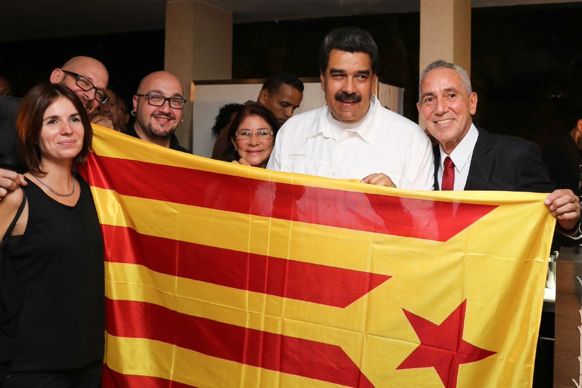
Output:
<path fill-rule="evenodd" d="M 372 73 L 378 73 L 378 46 L 368 31 L 358 27 L 340 27 L 327 34 L 320 46 L 321 74 L 325 74 L 332 50 L 366 53 L 370 55 Z"/>

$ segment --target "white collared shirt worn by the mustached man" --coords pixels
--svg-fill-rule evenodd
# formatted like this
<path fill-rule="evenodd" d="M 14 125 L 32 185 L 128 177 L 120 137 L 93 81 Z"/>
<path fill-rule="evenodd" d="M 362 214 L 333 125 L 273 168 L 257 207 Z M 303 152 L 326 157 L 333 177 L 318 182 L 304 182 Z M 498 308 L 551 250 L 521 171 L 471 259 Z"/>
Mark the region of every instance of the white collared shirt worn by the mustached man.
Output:
<path fill-rule="evenodd" d="M 327 105 L 289 118 L 277 134 L 267 168 L 338 179 L 384 173 L 398 188 L 413 190 L 431 190 L 434 182 L 427 135 L 373 95 L 359 123 L 336 120 Z"/>

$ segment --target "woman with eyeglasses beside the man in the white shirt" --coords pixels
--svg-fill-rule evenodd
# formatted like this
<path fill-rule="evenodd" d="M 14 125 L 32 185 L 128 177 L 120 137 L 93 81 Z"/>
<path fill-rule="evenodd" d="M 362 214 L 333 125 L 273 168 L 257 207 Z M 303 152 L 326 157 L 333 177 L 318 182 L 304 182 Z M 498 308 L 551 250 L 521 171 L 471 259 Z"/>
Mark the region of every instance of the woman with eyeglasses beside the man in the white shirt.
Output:
<path fill-rule="evenodd" d="M 253 167 L 267 167 L 279 131 L 275 115 L 261 105 L 245 106 L 230 125 L 222 160 Z"/>

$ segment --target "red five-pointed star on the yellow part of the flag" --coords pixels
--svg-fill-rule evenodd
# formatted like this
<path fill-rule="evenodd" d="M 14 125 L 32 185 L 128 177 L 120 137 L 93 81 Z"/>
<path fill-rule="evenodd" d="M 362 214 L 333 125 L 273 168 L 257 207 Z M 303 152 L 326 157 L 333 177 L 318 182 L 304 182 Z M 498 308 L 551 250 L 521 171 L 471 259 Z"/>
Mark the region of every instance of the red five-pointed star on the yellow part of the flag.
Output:
<path fill-rule="evenodd" d="M 464 300 L 440 325 L 403 309 L 420 345 L 396 369 L 432 367 L 446 388 L 456 388 L 460 364 L 495 354 L 463 340 L 466 304 Z"/>

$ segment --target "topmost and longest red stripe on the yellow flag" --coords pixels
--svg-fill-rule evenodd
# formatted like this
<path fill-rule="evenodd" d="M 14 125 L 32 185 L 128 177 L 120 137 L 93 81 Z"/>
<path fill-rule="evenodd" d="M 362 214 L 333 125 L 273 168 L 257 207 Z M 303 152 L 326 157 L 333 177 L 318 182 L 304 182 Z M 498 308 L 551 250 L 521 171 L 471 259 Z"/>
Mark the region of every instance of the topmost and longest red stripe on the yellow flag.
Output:
<path fill-rule="evenodd" d="M 94 154 L 86 169 L 91 185 L 122 195 L 436 241 L 450 239 L 496 207 L 283 184 Z"/>

